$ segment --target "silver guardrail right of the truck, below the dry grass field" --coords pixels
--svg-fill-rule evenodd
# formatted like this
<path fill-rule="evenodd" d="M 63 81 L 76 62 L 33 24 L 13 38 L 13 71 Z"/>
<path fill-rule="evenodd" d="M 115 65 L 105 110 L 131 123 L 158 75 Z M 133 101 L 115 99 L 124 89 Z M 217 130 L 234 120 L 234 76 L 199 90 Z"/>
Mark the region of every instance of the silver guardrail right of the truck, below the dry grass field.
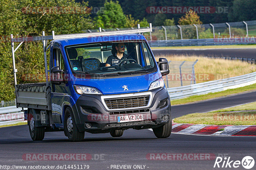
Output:
<path fill-rule="evenodd" d="M 193 95 L 204 95 L 207 93 L 235 89 L 256 83 L 256 72 L 244 74 L 236 77 L 207 81 L 203 83 L 191 84 L 188 86 L 167 88 L 170 99 L 181 99 Z"/>

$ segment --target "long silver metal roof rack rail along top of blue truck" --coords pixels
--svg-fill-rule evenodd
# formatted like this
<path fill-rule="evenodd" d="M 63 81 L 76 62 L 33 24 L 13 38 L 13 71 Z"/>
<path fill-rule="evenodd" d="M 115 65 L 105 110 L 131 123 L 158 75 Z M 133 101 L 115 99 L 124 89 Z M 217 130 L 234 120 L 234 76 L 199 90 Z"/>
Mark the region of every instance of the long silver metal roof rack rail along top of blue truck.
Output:
<path fill-rule="evenodd" d="M 120 35 L 120 34 L 132 34 L 132 33 L 143 33 L 143 32 L 152 32 L 152 24 L 149 24 L 149 28 L 140 29 L 140 24 L 138 24 L 138 29 L 131 30 L 118 30 L 118 31 L 105 31 L 101 32 L 101 28 L 99 28 L 100 32 L 87 32 L 87 33 L 78 33 L 78 34 L 63 34 L 63 35 L 55 35 L 54 31 L 52 31 L 52 35 L 48 36 L 38 36 L 38 37 L 23 37 L 23 38 L 12 38 L 11 42 L 26 42 L 26 41 L 38 41 L 38 40 L 50 40 L 50 39 L 69 39 L 69 38 L 85 38 L 85 37 L 93 37 L 93 36 L 106 36 L 106 35 Z"/>

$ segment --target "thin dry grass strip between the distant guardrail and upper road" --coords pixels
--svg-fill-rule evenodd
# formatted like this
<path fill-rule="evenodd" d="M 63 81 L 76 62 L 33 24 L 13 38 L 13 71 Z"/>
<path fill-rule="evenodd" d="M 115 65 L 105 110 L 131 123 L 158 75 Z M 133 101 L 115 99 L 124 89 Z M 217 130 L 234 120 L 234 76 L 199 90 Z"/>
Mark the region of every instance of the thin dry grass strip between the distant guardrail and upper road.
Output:
<path fill-rule="evenodd" d="M 249 45 L 224 45 L 224 46 L 170 46 L 170 47 L 151 47 L 155 49 L 190 49 L 190 48 L 256 48 L 256 44 Z"/>

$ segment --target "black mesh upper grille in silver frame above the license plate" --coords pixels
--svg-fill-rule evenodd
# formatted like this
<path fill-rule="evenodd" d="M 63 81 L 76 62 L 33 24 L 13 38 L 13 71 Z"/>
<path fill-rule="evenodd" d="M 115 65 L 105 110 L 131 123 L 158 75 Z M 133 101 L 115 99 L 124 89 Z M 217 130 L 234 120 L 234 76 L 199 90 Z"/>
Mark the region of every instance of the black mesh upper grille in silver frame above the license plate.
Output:
<path fill-rule="evenodd" d="M 108 109 L 125 109 L 148 105 L 149 95 L 105 99 Z"/>

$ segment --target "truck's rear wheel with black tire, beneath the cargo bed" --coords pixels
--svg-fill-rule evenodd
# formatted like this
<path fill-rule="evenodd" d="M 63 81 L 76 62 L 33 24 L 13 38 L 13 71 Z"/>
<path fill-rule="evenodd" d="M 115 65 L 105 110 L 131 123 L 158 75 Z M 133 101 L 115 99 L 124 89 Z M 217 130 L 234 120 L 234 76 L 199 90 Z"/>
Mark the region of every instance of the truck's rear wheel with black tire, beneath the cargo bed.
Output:
<path fill-rule="evenodd" d="M 28 129 L 32 140 L 43 140 L 44 139 L 44 127 L 35 127 L 35 113 L 30 109 L 28 114 Z"/>

